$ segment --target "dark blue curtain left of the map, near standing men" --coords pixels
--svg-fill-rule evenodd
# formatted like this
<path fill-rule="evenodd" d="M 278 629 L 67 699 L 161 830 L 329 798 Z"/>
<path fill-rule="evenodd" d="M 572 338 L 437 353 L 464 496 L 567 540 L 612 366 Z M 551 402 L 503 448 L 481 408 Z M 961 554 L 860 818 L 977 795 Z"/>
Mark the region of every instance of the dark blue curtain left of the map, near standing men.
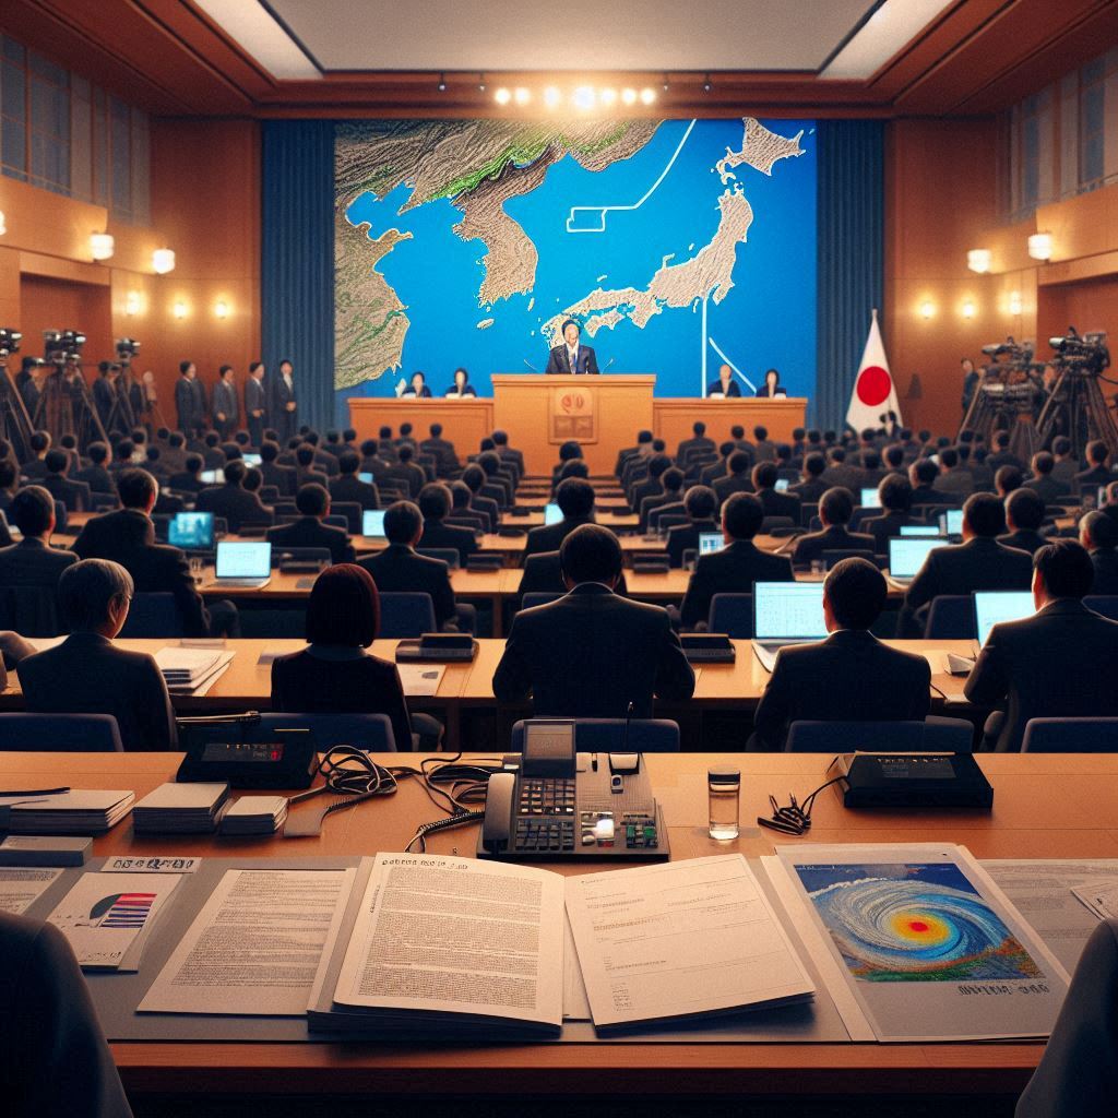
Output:
<path fill-rule="evenodd" d="M 265 121 L 260 333 L 271 380 L 295 369 L 299 421 L 334 423 L 334 124 Z"/>

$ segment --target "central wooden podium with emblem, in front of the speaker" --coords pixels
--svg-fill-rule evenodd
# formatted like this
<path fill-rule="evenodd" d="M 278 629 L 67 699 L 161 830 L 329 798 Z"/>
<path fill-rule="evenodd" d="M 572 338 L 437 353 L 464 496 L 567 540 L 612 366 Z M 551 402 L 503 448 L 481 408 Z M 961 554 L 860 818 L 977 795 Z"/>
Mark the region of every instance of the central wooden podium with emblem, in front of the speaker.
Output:
<path fill-rule="evenodd" d="M 622 376 L 525 376 L 493 373 L 493 426 L 515 433 L 529 474 L 550 474 L 559 447 L 582 444 L 591 474 L 608 474 L 617 452 L 632 446 L 636 433 L 652 429 L 652 390 L 647 373 Z"/>

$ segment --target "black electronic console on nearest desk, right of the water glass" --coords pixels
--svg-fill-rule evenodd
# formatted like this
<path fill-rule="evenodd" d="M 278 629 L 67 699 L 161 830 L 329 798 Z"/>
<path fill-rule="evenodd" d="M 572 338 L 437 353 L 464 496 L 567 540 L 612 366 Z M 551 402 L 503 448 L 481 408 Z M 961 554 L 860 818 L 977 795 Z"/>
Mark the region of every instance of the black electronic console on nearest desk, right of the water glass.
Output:
<path fill-rule="evenodd" d="M 846 807 L 979 807 L 994 789 L 972 754 L 841 754 L 828 776 L 841 777 Z"/>

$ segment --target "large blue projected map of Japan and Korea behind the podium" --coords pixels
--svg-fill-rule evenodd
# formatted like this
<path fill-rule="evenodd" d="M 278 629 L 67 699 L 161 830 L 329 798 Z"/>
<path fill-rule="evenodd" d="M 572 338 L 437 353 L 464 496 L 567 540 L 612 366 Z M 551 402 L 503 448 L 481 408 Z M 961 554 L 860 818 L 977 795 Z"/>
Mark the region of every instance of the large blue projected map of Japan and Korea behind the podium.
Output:
<path fill-rule="evenodd" d="M 390 395 L 424 369 L 442 392 L 462 364 L 485 391 L 542 369 L 568 318 L 609 333 L 618 371 L 688 395 L 723 351 L 792 375 L 814 348 L 813 135 L 754 117 L 339 124 L 335 389 Z M 789 264 L 803 330 L 755 359 L 739 334 Z"/>

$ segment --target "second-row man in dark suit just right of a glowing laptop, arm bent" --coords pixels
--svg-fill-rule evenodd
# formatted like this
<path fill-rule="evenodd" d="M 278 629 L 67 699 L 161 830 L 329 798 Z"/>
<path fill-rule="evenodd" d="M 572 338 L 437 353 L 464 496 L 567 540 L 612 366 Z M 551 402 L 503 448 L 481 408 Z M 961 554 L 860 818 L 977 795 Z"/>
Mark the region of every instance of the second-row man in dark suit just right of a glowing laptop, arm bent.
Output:
<path fill-rule="evenodd" d="M 997 542 L 1005 510 L 993 493 L 973 493 L 963 505 L 963 543 L 936 548 L 904 595 L 898 635 L 923 633 L 925 607 L 940 594 L 974 590 L 1027 590 L 1032 579 L 1029 553 Z"/>

